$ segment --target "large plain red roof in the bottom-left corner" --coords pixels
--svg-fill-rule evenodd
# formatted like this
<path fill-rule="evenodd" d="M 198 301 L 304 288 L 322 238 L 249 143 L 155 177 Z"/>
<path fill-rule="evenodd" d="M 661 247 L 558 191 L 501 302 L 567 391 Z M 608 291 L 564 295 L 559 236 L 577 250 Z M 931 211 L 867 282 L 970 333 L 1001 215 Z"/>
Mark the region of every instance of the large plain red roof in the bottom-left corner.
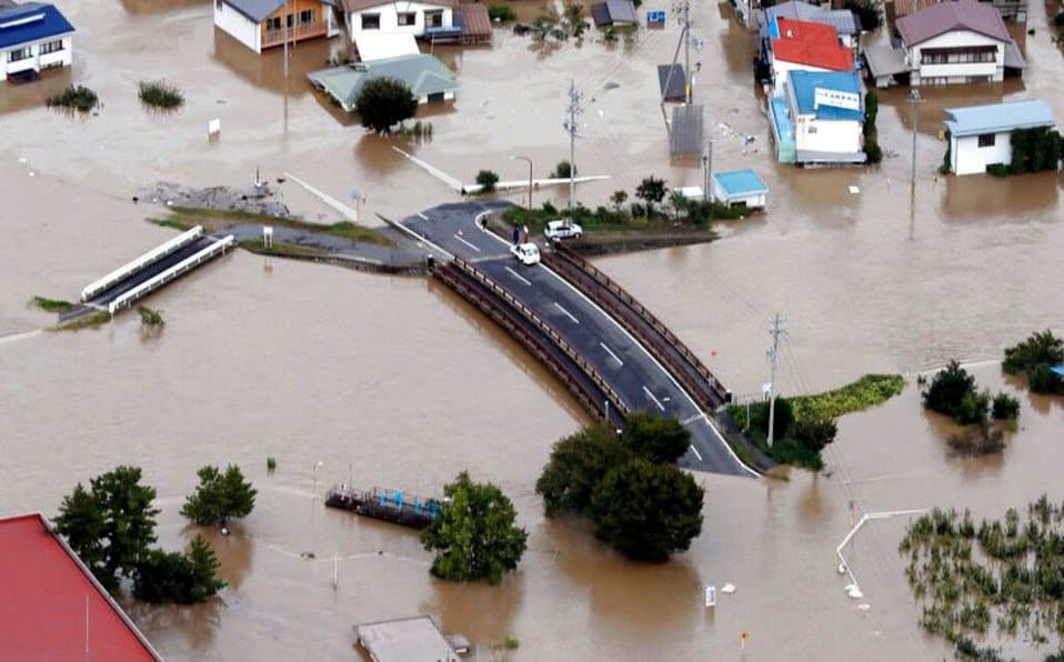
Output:
<path fill-rule="evenodd" d="M 0 519 L 0 660 L 162 660 L 40 514 Z"/>

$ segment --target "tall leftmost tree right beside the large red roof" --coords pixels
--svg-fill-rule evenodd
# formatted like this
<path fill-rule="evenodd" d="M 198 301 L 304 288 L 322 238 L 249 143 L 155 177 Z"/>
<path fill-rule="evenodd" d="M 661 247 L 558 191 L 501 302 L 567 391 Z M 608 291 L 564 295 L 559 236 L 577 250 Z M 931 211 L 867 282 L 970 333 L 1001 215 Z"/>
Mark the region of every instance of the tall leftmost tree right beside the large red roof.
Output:
<path fill-rule="evenodd" d="M 74 488 L 56 518 L 56 530 L 79 556 L 86 553 L 89 569 L 112 592 L 119 574 L 132 576 L 157 540 L 159 510 L 151 506 L 155 490 L 140 484 L 140 479 L 139 467 L 117 467 L 91 479 L 88 492 L 81 484 Z"/>

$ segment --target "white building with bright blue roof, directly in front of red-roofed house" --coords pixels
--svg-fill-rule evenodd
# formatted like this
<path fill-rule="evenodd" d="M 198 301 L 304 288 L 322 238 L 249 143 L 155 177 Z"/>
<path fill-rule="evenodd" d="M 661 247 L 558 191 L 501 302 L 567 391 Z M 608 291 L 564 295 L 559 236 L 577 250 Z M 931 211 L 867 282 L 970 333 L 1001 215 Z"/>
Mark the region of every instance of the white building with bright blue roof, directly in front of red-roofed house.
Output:
<path fill-rule="evenodd" d="M 864 163 L 864 104 L 853 71 L 790 71 L 770 119 L 783 163 Z"/>

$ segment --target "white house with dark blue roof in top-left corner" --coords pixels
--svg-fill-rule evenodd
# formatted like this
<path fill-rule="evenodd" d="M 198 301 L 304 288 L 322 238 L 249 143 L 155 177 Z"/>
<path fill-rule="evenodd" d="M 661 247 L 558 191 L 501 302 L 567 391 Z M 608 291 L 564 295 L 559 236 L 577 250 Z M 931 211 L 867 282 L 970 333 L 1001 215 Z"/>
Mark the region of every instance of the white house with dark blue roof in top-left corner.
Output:
<path fill-rule="evenodd" d="M 0 71 L 14 82 L 36 80 L 44 69 L 69 67 L 74 28 L 43 2 L 0 0 Z"/>

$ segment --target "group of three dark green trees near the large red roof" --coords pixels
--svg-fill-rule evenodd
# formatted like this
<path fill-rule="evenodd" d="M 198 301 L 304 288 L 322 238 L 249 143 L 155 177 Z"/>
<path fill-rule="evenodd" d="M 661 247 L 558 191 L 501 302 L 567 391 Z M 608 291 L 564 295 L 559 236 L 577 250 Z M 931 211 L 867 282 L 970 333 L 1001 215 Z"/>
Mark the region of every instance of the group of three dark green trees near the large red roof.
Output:
<path fill-rule="evenodd" d="M 255 491 L 231 465 L 221 480 L 218 469 L 200 470 L 201 482 L 189 495 L 182 514 L 197 523 L 244 516 L 254 508 Z M 147 602 L 189 604 L 214 595 L 225 583 L 218 579 L 218 558 L 199 534 L 189 550 L 168 552 L 152 548 L 155 489 L 141 483 L 139 467 L 120 465 L 81 483 L 63 498 L 56 530 L 67 539 L 93 576 L 111 593 L 122 579 L 133 584 L 133 595 Z"/>

